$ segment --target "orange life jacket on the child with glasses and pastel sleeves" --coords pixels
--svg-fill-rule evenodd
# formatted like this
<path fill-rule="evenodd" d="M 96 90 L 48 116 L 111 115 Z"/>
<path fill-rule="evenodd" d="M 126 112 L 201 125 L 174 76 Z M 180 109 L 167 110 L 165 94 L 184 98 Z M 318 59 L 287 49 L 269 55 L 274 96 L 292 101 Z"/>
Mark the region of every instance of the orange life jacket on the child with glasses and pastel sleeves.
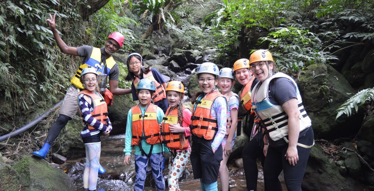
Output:
<path fill-rule="evenodd" d="M 203 96 L 203 95 L 200 95 Z M 191 133 L 206 140 L 212 140 L 218 131 L 217 119 L 211 116 L 211 109 L 214 100 L 223 95 L 219 91 L 206 94 L 200 101 L 194 104 L 194 112 L 191 116 Z"/>

